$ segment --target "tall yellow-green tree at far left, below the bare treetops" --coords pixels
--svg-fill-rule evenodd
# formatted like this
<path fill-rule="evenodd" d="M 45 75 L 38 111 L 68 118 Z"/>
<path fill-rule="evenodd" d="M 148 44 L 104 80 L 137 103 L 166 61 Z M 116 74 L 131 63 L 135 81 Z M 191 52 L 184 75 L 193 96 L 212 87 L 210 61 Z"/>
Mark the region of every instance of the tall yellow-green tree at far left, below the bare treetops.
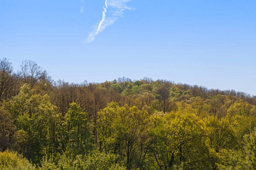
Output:
<path fill-rule="evenodd" d="M 24 84 L 20 93 L 5 103 L 5 108 L 15 118 L 14 149 L 33 163 L 40 163 L 44 155 L 59 151 L 60 114 L 48 95 L 33 93 Z"/>

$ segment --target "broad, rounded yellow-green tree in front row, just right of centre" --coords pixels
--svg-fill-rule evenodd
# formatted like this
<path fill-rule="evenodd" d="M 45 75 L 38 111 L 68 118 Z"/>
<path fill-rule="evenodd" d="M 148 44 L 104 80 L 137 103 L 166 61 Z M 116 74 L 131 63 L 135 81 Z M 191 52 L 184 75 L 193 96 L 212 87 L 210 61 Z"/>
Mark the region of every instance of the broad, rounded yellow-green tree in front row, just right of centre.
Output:
<path fill-rule="evenodd" d="M 171 112 L 151 117 L 150 154 L 159 169 L 207 169 L 209 151 L 203 122 L 195 114 Z"/>

